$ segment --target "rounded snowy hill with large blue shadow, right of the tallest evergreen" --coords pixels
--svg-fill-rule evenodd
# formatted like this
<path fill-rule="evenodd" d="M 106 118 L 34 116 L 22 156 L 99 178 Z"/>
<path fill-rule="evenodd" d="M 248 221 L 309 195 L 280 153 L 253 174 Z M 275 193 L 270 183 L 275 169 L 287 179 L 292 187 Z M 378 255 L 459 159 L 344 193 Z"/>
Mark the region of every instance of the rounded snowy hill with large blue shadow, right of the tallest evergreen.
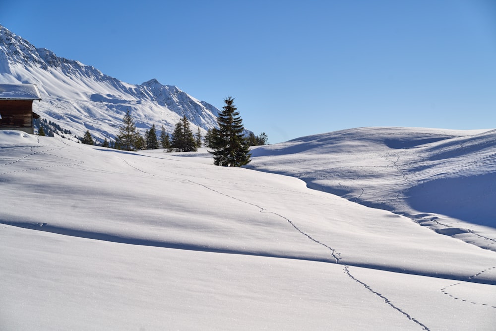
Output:
<path fill-rule="evenodd" d="M 496 251 L 496 130 L 359 128 L 253 151 L 250 167 Z"/>

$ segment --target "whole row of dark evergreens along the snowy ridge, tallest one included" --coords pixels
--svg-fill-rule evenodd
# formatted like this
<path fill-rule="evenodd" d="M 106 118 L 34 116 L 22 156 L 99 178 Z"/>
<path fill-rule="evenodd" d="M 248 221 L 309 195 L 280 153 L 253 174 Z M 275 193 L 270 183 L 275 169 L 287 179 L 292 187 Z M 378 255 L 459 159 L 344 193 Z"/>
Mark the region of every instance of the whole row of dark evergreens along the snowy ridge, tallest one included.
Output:
<path fill-rule="evenodd" d="M 219 128 L 208 130 L 205 135 L 205 145 L 213 149 L 209 152 L 213 154 L 215 165 L 240 167 L 250 162 L 249 146 L 267 144 L 267 134 L 262 132 L 260 135 L 255 135 L 249 132 L 247 135 L 240 113 L 234 105 L 234 98 L 227 97 L 224 103 L 225 106 L 217 117 Z M 109 142 L 105 138 L 102 146 L 122 150 L 164 148 L 168 152 L 197 151 L 202 146 L 200 129 L 198 128 L 198 132 L 193 134 L 186 116 L 176 124 L 172 136 L 165 132 L 163 126 L 161 129 L 160 136 L 157 136 L 155 125 L 152 125 L 142 136 L 136 129 L 130 111 L 127 110 L 116 141 Z M 81 142 L 95 144 L 88 130 L 81 138 Z"/>

